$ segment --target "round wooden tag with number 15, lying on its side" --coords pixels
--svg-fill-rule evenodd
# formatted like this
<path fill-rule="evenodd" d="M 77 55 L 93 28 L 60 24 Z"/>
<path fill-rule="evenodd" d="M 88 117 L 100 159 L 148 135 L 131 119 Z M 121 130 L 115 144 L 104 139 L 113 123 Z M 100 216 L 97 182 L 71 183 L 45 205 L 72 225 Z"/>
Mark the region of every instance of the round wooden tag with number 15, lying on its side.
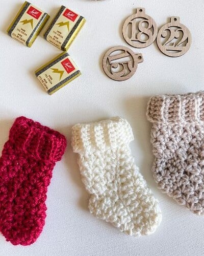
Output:
<path fill-rule="evenodd" d="M 104 55 L 103 69 L 111 79 L 124 81 L 135 74 L 137 64 L 142 61 L 143 57 L 141 53 L 136 54 L 124 46 L 115 46 L 109 49 Z"/>

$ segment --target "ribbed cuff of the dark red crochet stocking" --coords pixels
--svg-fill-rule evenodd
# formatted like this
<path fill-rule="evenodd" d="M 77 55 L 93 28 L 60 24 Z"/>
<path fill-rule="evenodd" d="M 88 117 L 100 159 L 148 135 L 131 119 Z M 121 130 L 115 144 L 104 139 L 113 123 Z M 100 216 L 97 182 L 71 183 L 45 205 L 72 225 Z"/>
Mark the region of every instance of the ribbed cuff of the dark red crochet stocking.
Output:
<path fill-rule="evenodd" d="M 66 147 L 65 137 L 49 127 L 26 117 L 18 117 L 13 123 L 9 142 L 16 150 L 40 160 L 59 161 Z"/>

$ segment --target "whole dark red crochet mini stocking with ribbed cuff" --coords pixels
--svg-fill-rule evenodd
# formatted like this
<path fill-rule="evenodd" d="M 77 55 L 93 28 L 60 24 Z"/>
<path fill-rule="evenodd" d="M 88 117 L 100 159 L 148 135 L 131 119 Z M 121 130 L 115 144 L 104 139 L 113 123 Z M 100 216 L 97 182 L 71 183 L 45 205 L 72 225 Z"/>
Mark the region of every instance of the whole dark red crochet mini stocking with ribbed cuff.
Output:
<path fill-rule="evenodd" d="M 38 122 L 19 117 L 0 159 L 0 230 L 13 245 L 30 245 L 45 224 L 47 186 L 66 139 Z"/>

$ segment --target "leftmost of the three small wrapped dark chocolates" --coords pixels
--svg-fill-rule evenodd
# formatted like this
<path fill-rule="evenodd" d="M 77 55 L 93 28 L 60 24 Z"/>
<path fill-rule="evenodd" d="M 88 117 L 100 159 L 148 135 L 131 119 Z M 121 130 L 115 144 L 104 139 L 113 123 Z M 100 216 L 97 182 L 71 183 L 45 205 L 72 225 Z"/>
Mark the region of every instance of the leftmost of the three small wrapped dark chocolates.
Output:
<path fill-rule="evenodd" d="M 46 12 L 25 1 L 7 33 L 23 45 L 31 47 L 48 18 Z"/>

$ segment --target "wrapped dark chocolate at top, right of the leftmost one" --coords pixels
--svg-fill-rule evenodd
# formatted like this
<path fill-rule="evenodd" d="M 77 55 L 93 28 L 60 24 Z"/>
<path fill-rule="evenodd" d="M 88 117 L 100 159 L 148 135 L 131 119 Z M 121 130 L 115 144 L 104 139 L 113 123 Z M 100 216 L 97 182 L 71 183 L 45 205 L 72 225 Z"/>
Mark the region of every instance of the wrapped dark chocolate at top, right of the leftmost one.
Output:
<path fill-rule="evenodd" d="M 44 33 L 44 38 L 62 51 L 67 51 L 85 22 L 84 17 L 61 6 Z"/>

